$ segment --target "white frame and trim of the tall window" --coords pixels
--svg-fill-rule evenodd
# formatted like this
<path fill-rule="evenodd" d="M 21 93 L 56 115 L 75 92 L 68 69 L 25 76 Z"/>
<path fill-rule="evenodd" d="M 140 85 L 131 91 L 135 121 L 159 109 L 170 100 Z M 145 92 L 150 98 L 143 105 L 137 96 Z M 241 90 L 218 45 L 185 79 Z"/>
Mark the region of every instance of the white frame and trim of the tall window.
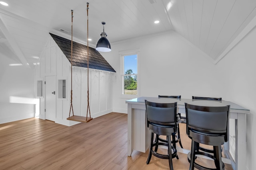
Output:
<path fill-rule="evenodd" d="M 132 98 L 138 98 L 138 96 L 140 96 L 140 71 L 139 71 L 139 55 L 140 55 L 140 51 L 138 49 L 136 50 L 129 50 L 129 51 L 121 51 L 119 52 L 120 56 L 121 56 L 121 98 L 128 98 L 128 99 L 132 99 Z M 127 55 L 137 55 L 137 74 L 124 74 L 124 56 Z M 133 95 L 133 94 L 124 94 L 124 76 L 132 76 L 132 75 L 137 75 L 137 95 Z"/>

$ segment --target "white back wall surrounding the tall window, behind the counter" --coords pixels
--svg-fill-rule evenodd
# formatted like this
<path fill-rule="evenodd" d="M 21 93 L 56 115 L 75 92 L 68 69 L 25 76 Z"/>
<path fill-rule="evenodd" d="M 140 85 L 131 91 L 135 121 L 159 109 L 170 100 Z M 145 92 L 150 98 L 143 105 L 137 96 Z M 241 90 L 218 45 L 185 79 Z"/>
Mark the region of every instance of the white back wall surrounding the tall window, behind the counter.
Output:
<path fill-rule="evenodd" d="M 221 85 L 216 81 L 216 76 L 220 72 L 216 70 L 216 65 L 176 32 L 111 45 L 112 51 L 102 55 L 116 70 L 113 83 L 113 111 L 127 113 L 125 100 L 128 98 L 121 98 L 120 53 L 132 49 L 140 49 L 140 96 L 222 96 Z"/>

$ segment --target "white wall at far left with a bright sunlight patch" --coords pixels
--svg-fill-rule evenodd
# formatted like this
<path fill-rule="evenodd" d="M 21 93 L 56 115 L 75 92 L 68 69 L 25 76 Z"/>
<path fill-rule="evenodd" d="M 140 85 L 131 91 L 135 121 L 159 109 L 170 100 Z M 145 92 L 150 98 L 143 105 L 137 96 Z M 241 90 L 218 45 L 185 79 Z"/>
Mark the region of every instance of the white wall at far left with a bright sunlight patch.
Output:
<path fill-rule="evenodd" d="M 34 70 L 1 55 L 0 123 L 34 117 Z"/>

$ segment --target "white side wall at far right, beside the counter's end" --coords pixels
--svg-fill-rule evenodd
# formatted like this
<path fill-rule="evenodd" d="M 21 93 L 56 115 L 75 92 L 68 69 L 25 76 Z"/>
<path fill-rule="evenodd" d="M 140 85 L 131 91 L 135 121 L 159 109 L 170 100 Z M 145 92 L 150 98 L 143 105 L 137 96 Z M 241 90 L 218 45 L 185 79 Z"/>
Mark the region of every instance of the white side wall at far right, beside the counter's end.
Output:
<path fill-rule="evenodd" d="M 246 169 L 256 167 L 256 28 L 252 29 L 218 64 L 222 96 L 250 109 L 246 116 Z"/>

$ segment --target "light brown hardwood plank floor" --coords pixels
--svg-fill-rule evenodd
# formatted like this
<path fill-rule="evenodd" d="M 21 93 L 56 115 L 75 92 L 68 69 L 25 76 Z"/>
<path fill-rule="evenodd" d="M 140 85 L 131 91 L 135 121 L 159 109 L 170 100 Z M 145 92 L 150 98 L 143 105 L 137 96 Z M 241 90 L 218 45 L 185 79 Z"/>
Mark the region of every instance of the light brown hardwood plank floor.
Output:
<path fill-rule="evenodd" d="M 182 145 L 190 149 L 186 124 Z M 179 145 L 178 145 L 179 146 Z M 162 152 L 165 152 L 162 149 Z M 187 155 L 178 153 L 174 170 L 187 170 Z M 109 113 L 72 127 L 38 118 L 0 124 L 1 170 L 168 170 L 168 160 L 134 151 L 127 156 L 127 114 Z M 198 161 L 212 165 L 212 161 Z M 226 170 L 232 170 L 226 165 Z"/>

